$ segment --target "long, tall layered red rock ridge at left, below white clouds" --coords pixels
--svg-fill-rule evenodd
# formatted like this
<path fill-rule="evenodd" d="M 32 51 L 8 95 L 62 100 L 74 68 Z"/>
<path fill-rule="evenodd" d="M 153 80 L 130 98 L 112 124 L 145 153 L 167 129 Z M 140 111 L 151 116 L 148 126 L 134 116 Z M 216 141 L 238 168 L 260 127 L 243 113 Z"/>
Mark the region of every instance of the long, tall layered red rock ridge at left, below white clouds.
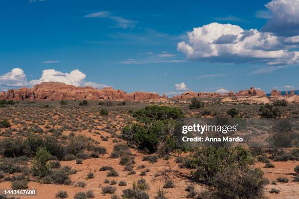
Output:
<path fill-rule="evenodd" d="M 58 82 L 43 82 L 33 88 L 12 89 L 0 93 L 0 100 L 159 100 L 159 94 L 134 92 L 127 94 L 112 87 L 94 89 L 91 86 L 77 87 Z"/>

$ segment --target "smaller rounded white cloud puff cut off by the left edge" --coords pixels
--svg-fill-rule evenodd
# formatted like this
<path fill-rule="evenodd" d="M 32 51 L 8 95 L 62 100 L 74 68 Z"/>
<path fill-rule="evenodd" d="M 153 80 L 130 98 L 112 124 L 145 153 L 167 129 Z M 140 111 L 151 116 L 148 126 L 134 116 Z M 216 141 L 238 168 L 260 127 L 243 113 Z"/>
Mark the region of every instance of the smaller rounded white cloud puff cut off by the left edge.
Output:
<path fill-rule="evenodd" d="M 0 76 L 0 86 L 25 86 L 26 75 L 21 68 L 14 68 L 10 72 Z"/>

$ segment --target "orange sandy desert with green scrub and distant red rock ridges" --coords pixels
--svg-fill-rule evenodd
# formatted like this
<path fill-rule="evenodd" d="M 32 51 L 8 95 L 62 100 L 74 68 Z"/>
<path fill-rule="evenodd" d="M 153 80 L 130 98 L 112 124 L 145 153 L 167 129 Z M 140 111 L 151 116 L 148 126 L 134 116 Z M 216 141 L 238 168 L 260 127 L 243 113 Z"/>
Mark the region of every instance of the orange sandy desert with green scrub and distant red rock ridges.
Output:
<path fill-rule="evenodd" d="M 142 126 L 147 124 L 148 117 L 157 120 L 151 125 L 166 125 L 168 121 L 158 121 L 165 113 L 171 120 L 299 117 L 298 96 L 294 94 L 192 97 L 169 99 L 142 92 L 132 95 L 112 88 L 98 90 L 56 82 L 2 92 L 0 189 L 36 189 L 37 197 L 23 197 L 28 199 L 299 197 L 298 148 L 216 149 L 224 154 L 246 150 L 247 166 L 240 165 L 239 169 L 248 167 L 253 172 L 256 168 L 261 172 L 256 176 L 242 170 L 252 182 L 240 179 L 240 187 L 234 187 L 220 179 L 218 183 L 224 184 L 216 185 L 212 183 L 213 173 L 199 172 L 209 169 L 205 165 L 213 162 L 207 159 L 202 165 L 197 160 L 205 159 L 204 155 L 213 150 L 176 148 L 170 143 L 171 135 L 161 133 L 170 131 L 159 130 L 159 126 L 155 127 L 158 140 L 147 136 L 137 139 L 152 136 L 146 130 L 137 137 L 130 136 L 139 133 L 132 129 L 138 129 L 140 122 Z M 263 112 L 261 106 L 266 105 L 267 112 Z M 237 163 L 240 160 L 234 160 L 233 164 Z M 223 175 L 228 178 L 231 174 Z"/>

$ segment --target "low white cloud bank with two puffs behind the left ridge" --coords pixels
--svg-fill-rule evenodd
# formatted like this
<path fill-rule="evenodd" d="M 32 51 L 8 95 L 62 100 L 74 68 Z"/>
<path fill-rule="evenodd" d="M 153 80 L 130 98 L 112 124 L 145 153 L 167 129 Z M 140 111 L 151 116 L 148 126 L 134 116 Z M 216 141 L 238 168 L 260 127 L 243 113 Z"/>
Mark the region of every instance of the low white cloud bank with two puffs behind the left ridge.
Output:
<path fill-rule="evenodd" d="M 78 69 L 70 73 L 63 73 L 54 69 L 43 70 L 42 77 L 38 80 L 27 81 L 26 75 L 21 68 L 14 68 L 10 72 L 0 76 L 0 88 L 33 86 L 42 82 L 55 81 L 74 86 L 92 86 L 94 88 L 109 87 L 106 84 L 86 82 L 86 75 Z"/>

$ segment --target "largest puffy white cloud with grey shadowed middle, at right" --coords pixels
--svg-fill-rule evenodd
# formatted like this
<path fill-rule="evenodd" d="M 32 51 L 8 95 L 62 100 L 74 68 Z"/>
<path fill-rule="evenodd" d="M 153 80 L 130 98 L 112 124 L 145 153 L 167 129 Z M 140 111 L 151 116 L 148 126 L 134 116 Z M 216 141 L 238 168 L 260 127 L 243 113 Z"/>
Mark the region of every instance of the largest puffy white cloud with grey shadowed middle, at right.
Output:
<path fill-rule="evenodd" d="M 275 34 L 256 29 L 244 30 L 237 25 L 210 23 L 193 28 L 188 38 L 188 43 L 178 43 L 177 50 L 189 60 L 261 61 L 268 65 L 299 63 L 299 51 L 290 50 L 291 46 L 285 45 Z"/>

